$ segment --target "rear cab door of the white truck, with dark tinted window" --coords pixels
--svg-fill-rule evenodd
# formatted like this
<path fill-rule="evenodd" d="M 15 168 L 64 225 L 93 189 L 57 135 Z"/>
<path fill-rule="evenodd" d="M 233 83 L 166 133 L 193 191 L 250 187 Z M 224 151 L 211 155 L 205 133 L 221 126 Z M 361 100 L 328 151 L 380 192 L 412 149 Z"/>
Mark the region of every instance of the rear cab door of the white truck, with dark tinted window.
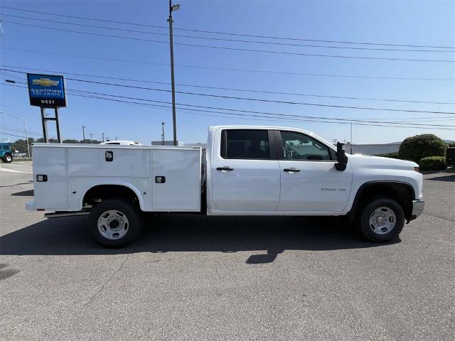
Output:
<path fill-rule="evenodd" d="M 223 129 L 215 134 L 211 199 L 223 211 L 272 211 L 279 202 L 273 131 Z"/>

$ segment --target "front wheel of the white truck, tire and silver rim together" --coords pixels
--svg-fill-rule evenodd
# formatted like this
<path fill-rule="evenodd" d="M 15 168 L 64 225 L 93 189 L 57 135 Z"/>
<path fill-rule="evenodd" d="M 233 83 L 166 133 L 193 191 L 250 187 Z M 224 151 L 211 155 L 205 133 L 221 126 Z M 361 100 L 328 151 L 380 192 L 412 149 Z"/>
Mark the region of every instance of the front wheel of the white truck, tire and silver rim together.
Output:
<path fill-rule="evenodd" d="M 368 202 L 358 215 L 358 227 L 372 242 L 389 242 L 399 236 L 405 224 L 401 205 L 388 197 L 378 197 Z"/>

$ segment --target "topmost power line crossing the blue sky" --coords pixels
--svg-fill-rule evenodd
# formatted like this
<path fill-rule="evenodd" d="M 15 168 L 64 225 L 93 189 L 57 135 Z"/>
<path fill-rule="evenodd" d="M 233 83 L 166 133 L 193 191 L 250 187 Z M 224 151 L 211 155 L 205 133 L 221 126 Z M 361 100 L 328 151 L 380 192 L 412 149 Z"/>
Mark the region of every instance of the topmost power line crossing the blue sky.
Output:
<path fill-rule="evenodd" d="M 100 21 L 105 23 L 120 23 L 124 25 L 133 25 L 133 26 L 143 26 L 143 27 L 153 27 L 153 28 L 165 28 L 168 29 L 166 26 L 158 26 L 158 25 L 150 25 L 145 23 L 130 23 L 125 21 L 113 21 L 113 20 L 106 20 L 101 18 L 87 18 L 83 16 L 70 16 L 66 14 L 60 13 L 49 13 L 49 12 L 42 12 L 42 11 L 32 11 L 30 9 L 18 9 L 16 7 L 9 7 L 9 6 L 0 6 L 4 9 L 11 9 L 14 11 L 24 11 L 30 13 L 40 13 L 45 14 L 48 16 L 61 16 L 65 18 L 76 18 L 82 20 L 91 20 L 91 21 Z M 402 45 L 402 44 L 392 44 L 392 43 L 374 43 L 374 42 L 358 42 L 358 41 L 346 41 L 346 40 L 321 40 L 321 39 L 304 39 L 304 38 L 289 38 L 289 37 L 277 37 L 277 36 L 257 36 L 252 34 L 245 34 L 245 33 L 229 33 L 229 32 L 220 32 L 220 31 L 206 31 L 206 30 L 196 30 L 191 28 L 174 28 L 175 30 L 179 31 L 191 31 L 191 32 L 198 32 L 198 33 L 210 33 L 210 34 L 221 34 L 221 35 L 228 35 L 228 36 L 242 36 L 242 37 L 252 37 L 252 38 L 267 38 L 267 39 L 280 39 L 280 40 L 299 40 L 299 41 L 314 41 L 320 43 L 342 43 L 342 44 L 356 44 L 356 45 L 382 45 L 382 46 L 402 46 L 408 48 L 454 48 L 453 46 L 429 46 L 429 45 Z"/>

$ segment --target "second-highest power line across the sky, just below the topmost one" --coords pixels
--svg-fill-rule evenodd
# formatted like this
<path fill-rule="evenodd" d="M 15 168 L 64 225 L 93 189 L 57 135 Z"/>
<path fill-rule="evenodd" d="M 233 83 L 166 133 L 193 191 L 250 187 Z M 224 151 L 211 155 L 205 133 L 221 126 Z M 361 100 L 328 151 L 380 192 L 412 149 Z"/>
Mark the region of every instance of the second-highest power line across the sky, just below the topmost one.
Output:
<path fill-rule="evenodd" d="M 150 31 L 138 31 L 138 30 L 129 30 L 127 28 L 114 28 L 114 27 L 107 27 L 107 26 L 97 26 L 97 25 L 88 25 L 87 23 L 70 23 L 68 21 L 56 21 L 50 19 L 43 19 L 43 18 L 31 18 L 28 16 L 15 16 L 13 14 L 2 13 L 2 16 L 10 16 L 13 18 L 21 18 L 26 20 L 34 20 L 34 21 L 45 21 L 49 23 L 63 23 L 65 25 L 73 25 L 73 26 L 82 26 L 82 27 L 90 27 L 90 28 L 101 28 L 105 30 L 112 30 L 112 31 L 122 31 L 122 32 L 129 32 L 129 33 L 144 33 L 144 34 L 151 34 L 154 36 L 168 36 L 168 33 L 158 33 L 158 32 L 150 32 Z M 5 21 L 8 22 L 8 21 Z M 13 22 L 10 22 L 13 23 Z M 25 25 L 25 23 L 23 23 Z M 254 43 L 254 44 L 264 44 L 264 45 L 280 45 L 280 46 L 294 46 L 294 47 L 306 47 L 306 48 L 333 48 L 333 49 L 341 49 L 341 50 L 380 50 L 380 51 L 406 51 L 406 52 L 435 52 L 435 53 L 454 53 L 454 50 L 416 50 L 411 48 L 362 48 L 362 47 L 354 47 L 354 46 L 333 46 L 333 45 L 314 45 L 314 44 L 299 44 L 299 43 L 279 43 L 273 41 L 258 41 L 258 40 L 242 40 L 242 39 L 232 39 L 232 38 L 215 38 L 215 37 L 199 37 L 199 36 L 187 36 L 181 34 L 174 34 L 173 36 L 179 38 L 191 38 L 191 39 L 201 39 L 201 40 L 217 40 L 217 41 L 228 41 L 231 43 Z"/>

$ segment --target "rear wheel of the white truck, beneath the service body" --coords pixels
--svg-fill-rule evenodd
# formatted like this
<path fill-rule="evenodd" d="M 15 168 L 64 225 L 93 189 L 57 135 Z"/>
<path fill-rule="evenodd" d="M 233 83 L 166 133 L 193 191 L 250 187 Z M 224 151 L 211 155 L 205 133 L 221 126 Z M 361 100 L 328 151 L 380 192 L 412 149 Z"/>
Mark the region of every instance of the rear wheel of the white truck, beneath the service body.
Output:
<path fill-rule="evenodd" d="M 110 213 L 108 213 L 109 211 Z M 99 220 L 100 228 L 98 228 Z M 115 222 L 116 220 L 117 222 Z M 122 198 L 103 200 L 90 212 L 87 218 L 87 228 L 90 229 L 92 237 L 100 244 L 107 247 L 124 247 L 141 234 L 141 212 L 132 202 Z M 112 234 L 111 238 L 107 237 L 109 234 Z"/>

